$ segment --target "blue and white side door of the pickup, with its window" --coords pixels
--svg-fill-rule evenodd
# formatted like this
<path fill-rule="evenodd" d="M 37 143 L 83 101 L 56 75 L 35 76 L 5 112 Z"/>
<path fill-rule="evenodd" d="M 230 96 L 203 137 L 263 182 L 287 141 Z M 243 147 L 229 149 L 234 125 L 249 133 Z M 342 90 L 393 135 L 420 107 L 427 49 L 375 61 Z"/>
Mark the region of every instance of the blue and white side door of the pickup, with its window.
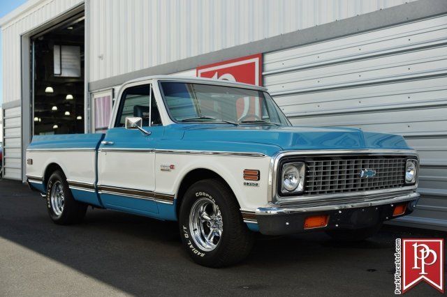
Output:
<path fill-rule="evenodd" d="M 150 107 L 149 101 L 152 101 Z M 140 215 L 158 213 L 154 201 L 154 148 L 163 134 L 163 126 L 152 86 L 129 86 L 117 104 L 115 125 L 107 131 L 98 150 L 101 201 L 106 208 L 118 211 Z M 151 134 L 127 130 L 124 125 L 128 116 L 142 118 L 143 128 Z"/>

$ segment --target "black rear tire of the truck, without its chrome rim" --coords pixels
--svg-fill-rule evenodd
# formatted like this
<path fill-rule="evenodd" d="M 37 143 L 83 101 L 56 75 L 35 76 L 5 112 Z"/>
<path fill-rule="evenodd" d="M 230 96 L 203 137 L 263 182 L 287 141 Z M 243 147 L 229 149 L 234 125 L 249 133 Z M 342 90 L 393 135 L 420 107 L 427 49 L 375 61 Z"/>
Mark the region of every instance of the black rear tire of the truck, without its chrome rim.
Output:
<path fill-rule="evenodd" d="M 61 213 L 56 213 L 51 195 L 55 186 L 61 185 L 64 204 Z M 51 220 L 56 224 L 74 224 L 82 221 L 87 211 L 87 204 L 80 203 L 73 198 L 64 173 L 60 170 L 53 172 L 47 183 L 47 210 Z"/>

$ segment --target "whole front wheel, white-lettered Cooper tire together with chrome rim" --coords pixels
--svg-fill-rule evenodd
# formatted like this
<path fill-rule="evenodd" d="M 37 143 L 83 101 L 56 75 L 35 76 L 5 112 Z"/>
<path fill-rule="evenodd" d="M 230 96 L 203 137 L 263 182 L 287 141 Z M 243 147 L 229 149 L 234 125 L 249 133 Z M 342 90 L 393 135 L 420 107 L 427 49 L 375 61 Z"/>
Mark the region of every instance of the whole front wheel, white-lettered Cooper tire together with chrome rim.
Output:
<path fill-rule="evenodd" d="M 207 267 L 242 261 L 254 243 L 254 234 L 243 222 L 233 192 L 214 178 L 198 181 L 186 191 L 179 229 L 193 261 Z"/>

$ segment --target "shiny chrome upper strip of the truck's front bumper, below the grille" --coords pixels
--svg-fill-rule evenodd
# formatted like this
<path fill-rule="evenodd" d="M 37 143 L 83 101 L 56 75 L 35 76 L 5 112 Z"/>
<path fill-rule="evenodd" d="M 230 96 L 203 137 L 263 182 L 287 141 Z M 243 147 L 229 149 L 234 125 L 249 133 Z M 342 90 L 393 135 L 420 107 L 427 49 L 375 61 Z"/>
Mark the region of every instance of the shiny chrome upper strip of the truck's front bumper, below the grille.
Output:
<path fill-rule="evenodd" d="M 387 197 L 381 197 L 380 199 L 365 198 L 362 201 L 345 202 L 342 204 L 330 204 L 324 206 L 305 206 L 305 207 L 260 207 L 256 209 L 256 215 L 279 215 L 286 213 L 305 213 L 314 211 L 336 211 L 345 208 L 362 208 L 369 206 L 379 206 L 383 204 L 395 204 L 405 201 L 413 201 L 420 197 L 418 192 L 411 192 L 405 195 L 388 195 Z"/>

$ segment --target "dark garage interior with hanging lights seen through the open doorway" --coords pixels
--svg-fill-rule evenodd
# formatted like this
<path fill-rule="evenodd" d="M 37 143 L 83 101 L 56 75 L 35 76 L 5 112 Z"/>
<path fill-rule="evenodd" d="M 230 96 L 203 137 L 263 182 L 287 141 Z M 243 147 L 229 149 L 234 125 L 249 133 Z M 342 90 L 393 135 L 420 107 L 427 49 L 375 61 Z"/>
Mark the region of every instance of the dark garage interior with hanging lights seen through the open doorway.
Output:
<path fill-rule="evenodd" d="M 31 135 L 83 133 L 85 17 L 31 37 Z"/>

